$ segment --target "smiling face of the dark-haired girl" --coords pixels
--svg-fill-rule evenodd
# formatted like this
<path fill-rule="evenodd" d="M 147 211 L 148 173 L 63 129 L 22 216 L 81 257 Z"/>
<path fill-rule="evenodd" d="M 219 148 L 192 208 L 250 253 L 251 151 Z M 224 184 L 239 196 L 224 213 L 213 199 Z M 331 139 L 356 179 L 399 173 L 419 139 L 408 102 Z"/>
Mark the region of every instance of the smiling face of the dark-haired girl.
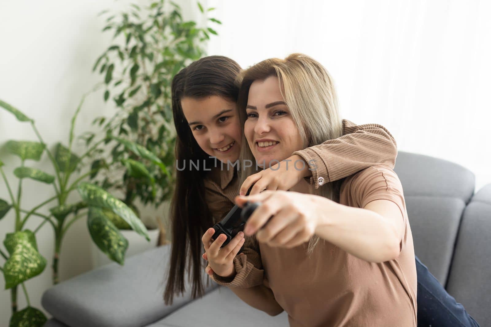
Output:
<path fill-rule="evenodd" d="M 223 163 L 239 159 L 241 126 L 235 102 L 218 95 L 181 100 L 184 116 L 201 149 Z"/>

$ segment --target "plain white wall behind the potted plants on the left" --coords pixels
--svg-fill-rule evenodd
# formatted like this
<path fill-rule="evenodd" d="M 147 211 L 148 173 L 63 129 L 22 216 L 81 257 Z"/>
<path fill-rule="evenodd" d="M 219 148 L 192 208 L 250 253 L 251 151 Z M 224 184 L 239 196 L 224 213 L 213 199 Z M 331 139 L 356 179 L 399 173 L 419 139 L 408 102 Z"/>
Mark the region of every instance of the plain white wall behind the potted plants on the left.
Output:
<path fill-rule="evenodd" d="M 97 14 L 104 9 L 123 8 L 130 1 L 113 0 L 10 0 L 0 2 L 0 99 L 12 104 L 27 116 L 33 118 L 45 142 L 53 146 L 62 140 L 68 142 L 69 120 L 77 108 L 82 94 L 89 91 L 101 77 L 92 74 L 92 66 L 99 54 L 110 45 L 110 36 L 101 33 L 104 20 Z M 136 3 L 150 3 L 137 0 Z M 190 9 L 184 3 L 189 16 L 197 9 Z M 193 6 L 194 7 L 194 6 Z M 185 15 L 186 17 L 186 15 Z M 91 129 L 94 117 L 110 116 L 114 108 L 102 101 L 102 94 L 86 99 L 79 115 L 76 134 Z M 0 147 L 9 139 L 37 140 L 28 123 L 18 122 L 13 115 L 0 109 Z M 76 153 L 85 148 L 78 146 Z M 12 171 L 20 165 L 20 160 L 5 155 L 3 169 L 14 192 L 17 178 Z M 46 153 L 40 163 L 26 162 L 48 172 L 53 172 Z M 55 195 L 52 187 L 26 180 L 23 183 L 22 207 L 31 209 L 43 200 Z M 9 201 L 9 195 L 0 179 L 0 198 Z M 73 199 L 77 199 L 77 192 Z M 10 201 L 9 201 L 10 202 Z M 54 205 L 53 205 L 54 206 Z M 47 206 L 50 208 L 51 206 Z M 47 213 L 47 211 L 41 211 Z M 0 220 L 0 248 L 3 235 L 14 228 L 14 211 Z M 41 218 L 30 218 L 27 228 L 34 230 Z M 59 274 L 61 280 L 71 278 L 92 269 L 90 236 L 86 219 L 77 221 L 68 231 L 62 245 Z M 44 290 L 52 285 L 51 265 L 54 249 L 52 227 L 45 224 L 36 234 L 38 247 L 47 260 L 45 271 L 26 282 L 31 305 L 41 308 L 40 300 Z M 4 260 L 0 258 L 0 266 Z M 10 318 L 10 291 L 4 290 L 3 277 L 0 278 L 0 326 L 8 326 Z M 18 288 L 18 306 L 26 306 L 22 288 Z M 46 313 L 46 312 L 45 312 Z"/>

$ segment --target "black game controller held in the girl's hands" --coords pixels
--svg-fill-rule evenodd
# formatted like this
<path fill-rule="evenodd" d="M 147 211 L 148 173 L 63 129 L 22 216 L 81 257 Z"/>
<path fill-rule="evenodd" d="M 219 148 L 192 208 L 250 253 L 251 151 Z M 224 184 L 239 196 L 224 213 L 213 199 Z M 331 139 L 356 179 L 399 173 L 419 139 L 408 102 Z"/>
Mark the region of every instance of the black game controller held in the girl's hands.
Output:
<path fill-rule="evenodd" d="M 252 186 L 247 191 L 246 195 L 249 195 Z M 235 205 L 232 210 L 229 211 L 225 218 L 217 222 L 213 229 L 215 233 L 212 236 L 213 240 L 216 240 L 220 234 L 225 234 L 227 239 L 220 247 L 227 245 L 240 231 L 244 230 L 244 225 L 252 212 L 260 205 L 259 202 L 246 202 L 243 209 Z"/>

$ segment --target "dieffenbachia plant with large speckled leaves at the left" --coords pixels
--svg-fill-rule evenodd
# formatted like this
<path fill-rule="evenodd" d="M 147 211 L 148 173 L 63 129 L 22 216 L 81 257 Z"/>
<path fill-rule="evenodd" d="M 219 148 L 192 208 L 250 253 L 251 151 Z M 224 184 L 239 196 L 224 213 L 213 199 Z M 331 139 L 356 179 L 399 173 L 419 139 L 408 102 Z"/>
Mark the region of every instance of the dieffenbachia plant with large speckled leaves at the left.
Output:
<path fill-rule="evenodd" d="M 38 138 L 38 141 L 10 140 L 6 143 L 8 152 L 18 156 L 21 162 L 20 166 L 13 170 L 14 175 L 19 179 L 15 195 L 15 190 L 10 187 L 5 176 L 4 164 L 0 160 L 0 174 L 10 196 L 8 200 L 0 199 L 0 219 L 4 218 L 11 209 L 15 212 L 15 224 L 12 232 L 6 233 L 3 241 L 7 253 L 0 250 L 0 255 L 5 260 L 3 267 L 0 267 L 0 272 L 5 279 L 5 289 L 10 289 L 11 292 L 12 317 L 10 326 L 42 326 L 46 321 L 46 317 L 40 310 L 30 306 L 27 289 L 24 285 L 26 280 L 39 275 L 46 268 L 47 260 L 39 253 L 36 243 L 36 233 L 45 223 L 49 223 L 55 232 L 55 253 L 53 254 L 52 266 L 53 283 L 55 284 L 58 282 L 59 253 L 63 237 L 77 219 L 87 217 L 87 226 L 94 243 L 112 260 L 120 264 L 124 262 L 128 241 L 122 237 L 113 221 L 123 220 L 138 234 L 148 238 L 145 226 L 128 206 L 107 191 L 83 181 L 97 168 L 82 173 L 78 178 L 74 177 L 74 172 L 81 172 L 84 167 L 83 159 L 92 151 L 97 150 L 94 144 L 80 157 L 72 153 L 74 127 L 82 103 L 83 98 L 71 120 L 68 146 L 57 143 L 54 151 L 52 151 L 43 141 L 34 120 L 0 100 L 1 108 L 12 113 L 18 121 L 30 123 Z M 104 139 L 101 139 L 96 144 L 103 141 Z M 136 144 L 132 143 L 128 143 L 127 146 L 137 147 Z M 52 164 L 53 173 L 42 171 L 30 166 L 30 164 L 26 165 L 31 161 L 40 161 L 45 152 Z M 22 206 L 22 186 L 25 179 L 53 186 L 55 196 L 47 198 L 30 210 L 24 209 Z M 69 203 L 68 196 L 75 190 L 80 193 L 82 200 Z M 40 210 L 48 204 L 50 205 L 50 214 L 42 214 Z M 27 220 L 33 217 L 42 218 L 42 221 L 34 231 L 31 231 L 25 226 Z M 27 300 L 27 307 L 21 311 L 17 310 L 18 286 L 22 286 Z"/>

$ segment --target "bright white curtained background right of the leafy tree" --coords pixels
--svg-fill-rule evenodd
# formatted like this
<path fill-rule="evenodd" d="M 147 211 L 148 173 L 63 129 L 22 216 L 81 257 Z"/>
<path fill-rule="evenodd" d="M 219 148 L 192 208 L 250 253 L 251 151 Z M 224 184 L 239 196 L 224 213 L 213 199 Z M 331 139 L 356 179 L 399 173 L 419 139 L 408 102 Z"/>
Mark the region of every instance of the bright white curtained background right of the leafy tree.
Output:
<path fill-rule="evenodd" d="M 293 52 L 331 73 L 344 118 L 387 127 L 399 150 L 459 163 L 491 183 L 491 2 L 209 0 L 209 54 L 247 67 Z"/>

